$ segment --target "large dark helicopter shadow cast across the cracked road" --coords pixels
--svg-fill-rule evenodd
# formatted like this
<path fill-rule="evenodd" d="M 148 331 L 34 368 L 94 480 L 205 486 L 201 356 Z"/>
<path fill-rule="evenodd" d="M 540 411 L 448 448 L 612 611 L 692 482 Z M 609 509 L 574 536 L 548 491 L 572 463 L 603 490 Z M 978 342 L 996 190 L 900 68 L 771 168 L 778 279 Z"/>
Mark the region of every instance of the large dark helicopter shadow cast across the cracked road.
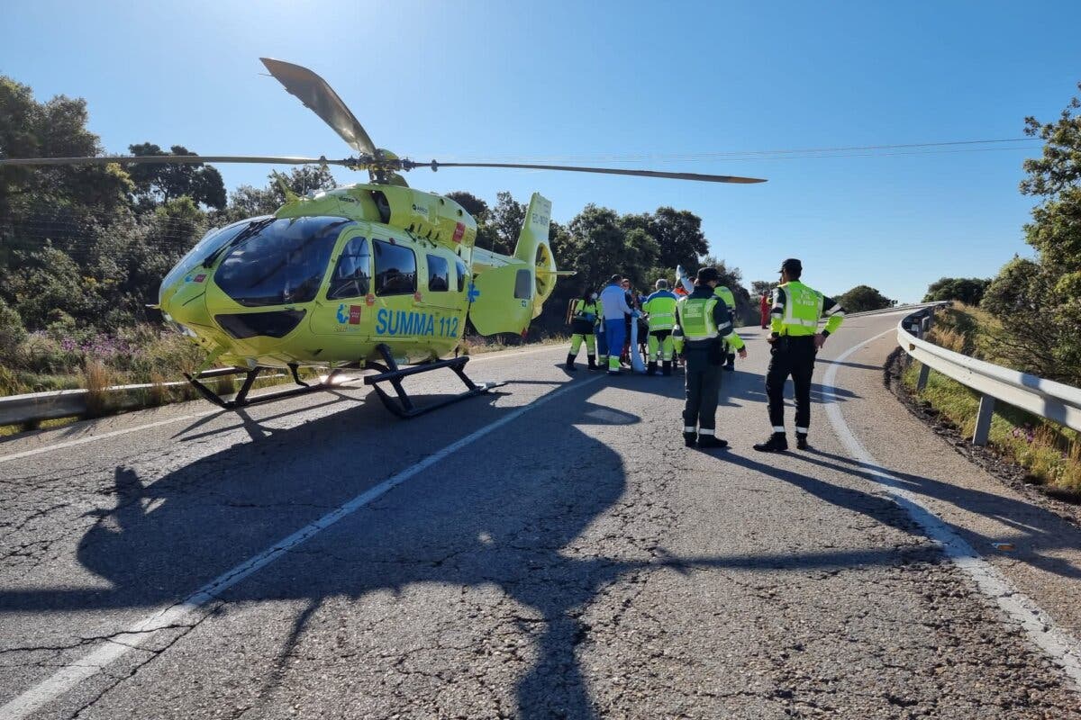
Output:
<path fill-rule="evenodd" d="M 662 384 L 645 385 L 643 380 Z M 618 378 L 613 384 L 679 396 L 682 383 L 665 382 L 675 380 Z M 288 655 L 330 598 L 359 603 L 372 593 L 412 585 L 457 588 L 454 596 L 463 587 L 495 586 L 524 607 L 524 614 L 538 616 L 530 621 L 537 658 L 523 663 L 515 688 L 521 717 L 593 718 L 598 711 L 578 664 L 589 637 L 580 617 L 620 579 L 665 568 L 805 569 L 897 561 L 893 548 L 673 558 L 636 547 L 623 540 L 629 533 L 611 527 L 605 536 L 615 541 L 597 540 L 589 532 L 593 524 L 628 521 L 625 514 L 609 513 L 627 493 L 627 479 L 619 454 L 583 429 L 639 422 L 633 415 L 591 402 L 601 390 L 598 384 L 535 410 L 528 424 L 501 430 L 498 445 L 459 451 L 448 459 L 445 473 L 437 468 L 411 479 L 228 590 L 224 599 L 229 602 L 305 601 L 278 651 L 276 669 L 269 671 L 267 692 L 288 679 Z M 479 398 L 469 403 L 479 404 L 480 425 L 515 411 Z M 110 587 L 5 589 L 0 590 L 0 609 L 149 609 L 183 599 L 382 479 L 373 477 L 375 460 L 357 438 L 386 425 L 386 418 L 365 416 L 371 410 L 360 407 L 317 418 L 275 432 L 272 441 L 243 443 L 156 480 L 143 479 L 132 467 L 117 467 L 115 506 L 93 514 L 78 548 L 83 567 Z M 445 424 L 433 416 L 423 421 L 428 424 L 410 423 L 409 435 L 400 440 L 400 434 L 383 433 L 377 443 L 387 452 L 404 453 L 424 445 L 425 431 Z M 472 426 L 462 424 L 459 433 Z M 490 436 L 484 443 L 496 440 Z M 525 452 L 492 452 L 490 447 Z M 427 452 L 421 447 L 414 457 Z M 409 458 L 404 464 L 411 462 Z M 605 547 L 605 542 L 615 546 Z M 605 556 L 626 556 L 628 549 L 642 559 Z M 468 623 L 465 617 L 453 622 L 456 627 Z M 481 626 L 477 631 L 483 636 L 486 630 Z"/>

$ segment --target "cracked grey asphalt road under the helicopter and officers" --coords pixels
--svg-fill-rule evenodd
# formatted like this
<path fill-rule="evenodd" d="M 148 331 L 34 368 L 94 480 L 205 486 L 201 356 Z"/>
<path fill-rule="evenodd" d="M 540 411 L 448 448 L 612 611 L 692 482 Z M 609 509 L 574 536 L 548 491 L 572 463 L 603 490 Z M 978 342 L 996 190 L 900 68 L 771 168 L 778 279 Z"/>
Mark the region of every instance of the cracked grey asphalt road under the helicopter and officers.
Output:
<path fill-rule="evenodd" d="M 683 447 L 681 377 L 563 348 L 408 422 L 350 390 L 0 443 L 0 718 L 1081 718 L 1081 532 L 882 388 L 898 318 L 830 338 L 811 452 L 750 447 L 757 330 L 728 451 Z"/>

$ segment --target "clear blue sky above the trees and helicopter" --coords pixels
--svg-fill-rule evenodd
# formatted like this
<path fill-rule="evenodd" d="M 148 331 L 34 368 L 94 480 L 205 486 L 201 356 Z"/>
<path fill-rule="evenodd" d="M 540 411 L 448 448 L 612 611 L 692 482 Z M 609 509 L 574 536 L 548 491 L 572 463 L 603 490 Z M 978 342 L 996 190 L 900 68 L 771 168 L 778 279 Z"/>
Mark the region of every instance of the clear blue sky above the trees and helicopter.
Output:
<path fill-rule="evenodd" d="M 201 154 L 348 154 L 262 74 L 258 57 L 270 56 L 323 76 L 377 145 L 415 160 L 573 158 L 765 177 L 446 168 L 409 179 L 489 201 L 539 191 L 561 221 L 588 202 L 686 208 L 748 285 L 796 256 L 824 291 L 866 283 L 912 300 L 942 275 L 989 276 L 1030 254 L 1022 226 L 1032 201 L 1017 182 L 1037 142 L 700 157 L 1023 137 L 1025 116 L 1053 120 L 1076 93 L 1078 27 L 1075 2 L 38 0 L 5 8 L 0 73 L 41 100 L 86 98 L 109 152 L 152 141 Z M 232 189 L 266 185 L 270 168 L 219 169 Z"/>

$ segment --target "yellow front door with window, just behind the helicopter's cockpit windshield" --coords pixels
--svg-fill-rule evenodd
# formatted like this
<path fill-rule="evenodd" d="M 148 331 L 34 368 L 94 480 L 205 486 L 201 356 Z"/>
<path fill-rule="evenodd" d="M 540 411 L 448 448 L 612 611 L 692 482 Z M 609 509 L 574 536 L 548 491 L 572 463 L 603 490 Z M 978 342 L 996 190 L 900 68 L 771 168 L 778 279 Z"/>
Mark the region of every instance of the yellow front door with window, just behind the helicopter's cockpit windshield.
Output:
<path fill-rule="evenodd" d="M 372 330 L 372 250 L 369 240 L 356 233 L 339 241 L 326 281 L 325 294 L 316 302 L 311 330 L 342 338 L 364 337 Z"/>

